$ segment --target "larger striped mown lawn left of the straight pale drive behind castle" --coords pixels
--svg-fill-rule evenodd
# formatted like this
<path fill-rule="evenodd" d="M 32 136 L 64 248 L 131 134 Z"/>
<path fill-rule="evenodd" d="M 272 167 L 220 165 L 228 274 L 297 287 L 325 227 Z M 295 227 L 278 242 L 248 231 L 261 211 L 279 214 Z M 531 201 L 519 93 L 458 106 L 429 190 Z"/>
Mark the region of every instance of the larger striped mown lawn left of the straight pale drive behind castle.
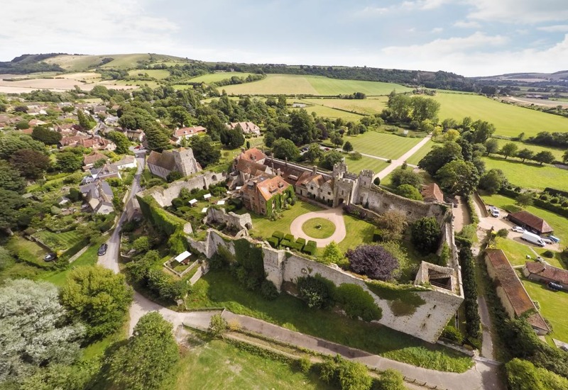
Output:
<path fill-rule="evenodd" d="M 357 152 L 390 159 L 404 155 L 420 142 L 420 138 L 400 137 L 376 131 L 367 131 L 356 136 L 347 135 L 344 140 L 349 141 Z"/>

